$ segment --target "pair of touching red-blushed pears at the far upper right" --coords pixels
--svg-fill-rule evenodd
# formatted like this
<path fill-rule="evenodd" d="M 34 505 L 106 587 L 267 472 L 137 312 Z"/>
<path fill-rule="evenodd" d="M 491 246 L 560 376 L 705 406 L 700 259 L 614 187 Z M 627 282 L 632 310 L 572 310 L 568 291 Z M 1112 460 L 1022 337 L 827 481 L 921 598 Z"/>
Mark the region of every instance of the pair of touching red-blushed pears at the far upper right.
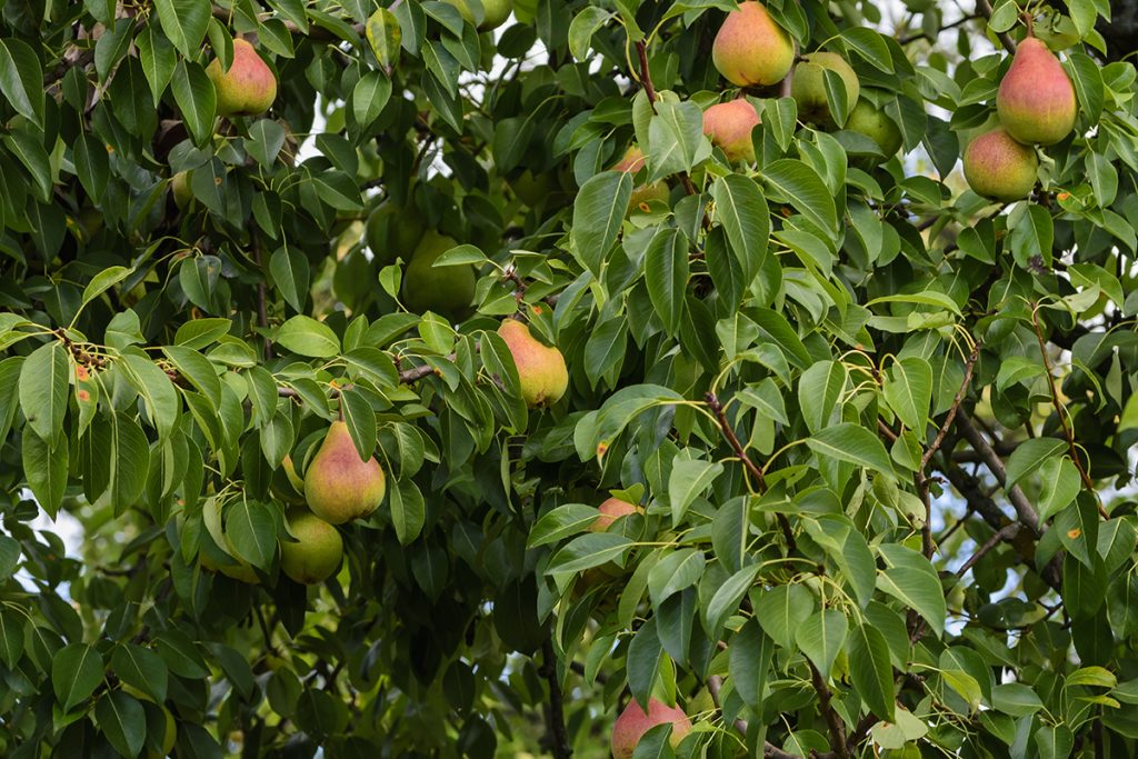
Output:
<path fill-rule="evenodd" d="M 1032 35 L 1020 42 L 996 92 L 1000 126 L 974 139 L 964 151 L 964 178 L 978 195 L 1019 200 L 1036 187 L 1036 145 L 1055 145 L 1074 129 L 1079 115 L 1074 84 L 1047 44 Z"/>

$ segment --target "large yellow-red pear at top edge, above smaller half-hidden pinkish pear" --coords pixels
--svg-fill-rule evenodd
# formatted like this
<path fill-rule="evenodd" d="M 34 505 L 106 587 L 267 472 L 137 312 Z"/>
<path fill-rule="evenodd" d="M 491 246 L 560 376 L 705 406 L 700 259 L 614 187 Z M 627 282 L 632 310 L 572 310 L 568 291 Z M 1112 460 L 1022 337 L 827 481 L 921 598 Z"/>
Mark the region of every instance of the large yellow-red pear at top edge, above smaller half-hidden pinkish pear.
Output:
<path fill-rule="evenodd" d="M 794 41 L 759 2 L 727 14 L 711 43 L 711 63 L 732 84 L 775 84 L 794 63 Z"/>

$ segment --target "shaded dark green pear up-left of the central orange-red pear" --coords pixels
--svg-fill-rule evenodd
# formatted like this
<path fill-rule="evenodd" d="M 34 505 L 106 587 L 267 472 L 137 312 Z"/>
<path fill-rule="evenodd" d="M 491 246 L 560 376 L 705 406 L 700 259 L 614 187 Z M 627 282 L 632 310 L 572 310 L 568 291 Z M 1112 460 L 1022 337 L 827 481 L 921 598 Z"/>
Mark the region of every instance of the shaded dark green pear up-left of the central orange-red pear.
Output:
<path fill-rule="evenodd" d="M 452 321 L 470 315 L 475 298 L 475 267 L 434 269 L 435 261 L 459 244 L 438 232 L 427 231 L 403 274 L 403 305 L 414 313 L 434 311 Z"/>

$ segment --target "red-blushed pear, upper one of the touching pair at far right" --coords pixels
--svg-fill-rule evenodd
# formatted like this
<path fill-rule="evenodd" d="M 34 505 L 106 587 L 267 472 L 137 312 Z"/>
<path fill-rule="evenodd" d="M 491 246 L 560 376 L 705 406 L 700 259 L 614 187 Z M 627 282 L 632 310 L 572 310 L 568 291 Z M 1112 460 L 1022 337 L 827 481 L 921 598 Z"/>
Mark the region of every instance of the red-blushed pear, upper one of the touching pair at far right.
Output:
<path fill-rule="evenodd" d="M 1007 133 L 1024 145 L 1055 145 L 1074 129 L 1074 85 L 1038 39 L 1029 36 L 1016 48 L 996 93 L 996 110 Z"/>

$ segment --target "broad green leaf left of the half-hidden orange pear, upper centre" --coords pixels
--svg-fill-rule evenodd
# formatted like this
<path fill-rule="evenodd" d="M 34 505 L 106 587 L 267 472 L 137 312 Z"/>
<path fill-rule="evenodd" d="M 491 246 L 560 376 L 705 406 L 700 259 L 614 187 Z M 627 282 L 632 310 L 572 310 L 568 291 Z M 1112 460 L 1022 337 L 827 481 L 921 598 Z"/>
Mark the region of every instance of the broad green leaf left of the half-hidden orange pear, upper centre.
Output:
<path fill-rule="evenodd" d="M 577 193 L 570 250 L 593 277 L 601 277 L 632 195 L 633 178 L 627 172 L 601 172 L 585 182 Z"/>

